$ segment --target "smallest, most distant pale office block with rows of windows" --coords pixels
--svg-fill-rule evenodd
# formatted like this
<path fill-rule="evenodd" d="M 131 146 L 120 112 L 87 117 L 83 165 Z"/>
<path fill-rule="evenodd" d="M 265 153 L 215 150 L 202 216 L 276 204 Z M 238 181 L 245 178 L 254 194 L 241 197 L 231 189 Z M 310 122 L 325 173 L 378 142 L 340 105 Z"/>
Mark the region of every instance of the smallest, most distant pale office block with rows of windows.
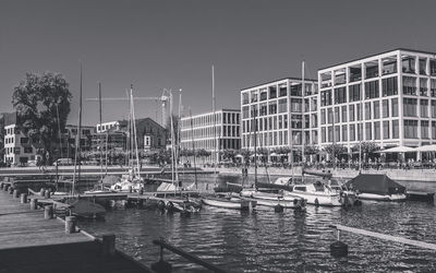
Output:
<path fill-rule="evenodd" d="M 181 119 L 181 150 L 206 150 L 205 162 L 219 162 L 223 150 L 241 149 L 241 114 L 235 109 L 220 109 Z"/>

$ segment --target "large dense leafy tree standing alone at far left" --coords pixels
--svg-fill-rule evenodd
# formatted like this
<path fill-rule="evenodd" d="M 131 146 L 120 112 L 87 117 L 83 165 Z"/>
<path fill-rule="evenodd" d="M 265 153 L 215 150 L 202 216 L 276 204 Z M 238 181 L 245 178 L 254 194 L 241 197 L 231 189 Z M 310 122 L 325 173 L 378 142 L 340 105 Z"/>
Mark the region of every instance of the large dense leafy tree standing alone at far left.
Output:
<path fill-rule="evenodd" d="M 14 87 L 12 104 L 17 114 L 17 126 L 31 139 L 39 141 L 41 152 L 52 156 L 52 140 L 64 130 L 72 95 L 69 83 L 60 73 L 26 73 Z M 58 118 L 59 115 L 59 118 Z M 44 157 L 43 157 L 44 158 Z"/>

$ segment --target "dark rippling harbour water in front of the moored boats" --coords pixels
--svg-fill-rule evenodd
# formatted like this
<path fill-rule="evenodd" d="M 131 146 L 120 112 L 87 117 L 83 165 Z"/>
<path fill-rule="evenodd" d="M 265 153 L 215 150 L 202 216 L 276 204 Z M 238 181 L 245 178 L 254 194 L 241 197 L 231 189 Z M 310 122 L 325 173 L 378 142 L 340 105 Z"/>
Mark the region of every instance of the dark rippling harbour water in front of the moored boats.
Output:
<path fill-rule="evenodd" d="M 214 180 L 202 176 L 199 186 Z M 218 178 L 221 183 L 228 180 L 238 178 Z M 328 227 L 330 224 L 436 244 L 434 203 L 409 201 L 370 201 L 349 210 L 308 205 L 305 213 L 243 213 L 204 206 L 190 217 L 152 209 L 128 209 L 110 211 L 106 222 L 84 222 L 81 227 L 97 236 L 116 234 L 117 247 L 147 265 L 159 256 L 152 240 L 164 237 L 230 272 L 436 272 L 435 251 L 344 232 L 341 240 L 349 245 L 349 256 L 332 258 L 329 246 L 336 234 Z M 177 272 L 204 271 L 168 251 L 165 259 Z"/>

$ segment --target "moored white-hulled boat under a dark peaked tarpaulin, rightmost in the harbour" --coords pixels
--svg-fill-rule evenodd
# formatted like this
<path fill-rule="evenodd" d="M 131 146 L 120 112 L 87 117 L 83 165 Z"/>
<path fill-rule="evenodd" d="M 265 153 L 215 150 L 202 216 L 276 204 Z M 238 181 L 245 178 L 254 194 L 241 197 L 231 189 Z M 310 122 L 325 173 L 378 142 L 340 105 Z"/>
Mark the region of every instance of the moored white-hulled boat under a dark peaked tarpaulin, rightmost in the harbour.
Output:
<path fill-rule="evenodd" d="M 405 187 L 387 175 L 360 174 L 346 186 L 358 192 L 360 199 L 375 201 L 404 201 L 407 199 Z"/>

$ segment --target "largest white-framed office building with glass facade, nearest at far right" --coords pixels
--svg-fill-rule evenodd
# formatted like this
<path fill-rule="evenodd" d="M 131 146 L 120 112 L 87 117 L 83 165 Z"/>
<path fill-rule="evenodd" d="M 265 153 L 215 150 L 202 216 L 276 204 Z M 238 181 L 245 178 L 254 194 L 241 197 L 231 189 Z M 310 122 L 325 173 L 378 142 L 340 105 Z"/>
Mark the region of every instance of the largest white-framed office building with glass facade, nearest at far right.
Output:
<path fill-rule="evenodd" d="M 436 143 L 436 54 L 396 49 L 318 70 L 319 144 Z"/>

